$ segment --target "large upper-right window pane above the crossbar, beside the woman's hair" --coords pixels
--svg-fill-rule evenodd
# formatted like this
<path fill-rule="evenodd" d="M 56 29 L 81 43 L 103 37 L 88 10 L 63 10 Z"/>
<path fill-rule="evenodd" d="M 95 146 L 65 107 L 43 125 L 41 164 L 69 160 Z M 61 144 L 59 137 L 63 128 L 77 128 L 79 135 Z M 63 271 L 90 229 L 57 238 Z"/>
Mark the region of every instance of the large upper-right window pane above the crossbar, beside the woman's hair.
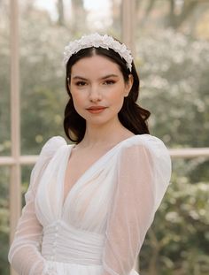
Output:
<path fill-rule="evenodd" d="M 169 147 L 207 147 L 208 1 L 136 1 L 136 64 L 151 133 Z"/>

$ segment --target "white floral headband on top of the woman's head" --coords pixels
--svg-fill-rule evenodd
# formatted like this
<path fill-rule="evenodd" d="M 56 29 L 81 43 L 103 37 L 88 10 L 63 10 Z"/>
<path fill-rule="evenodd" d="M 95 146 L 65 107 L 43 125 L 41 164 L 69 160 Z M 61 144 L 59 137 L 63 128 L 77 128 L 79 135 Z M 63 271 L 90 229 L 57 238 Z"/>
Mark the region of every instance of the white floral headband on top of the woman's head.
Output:
<path fill-rule="evenodd" d="M 87 49 L 90 47 L 101 47 L 107 50 L 114 50 L 120 55 L 120 57 L 126 60 L 128 69 L 131 72 L 133 57 L 131 56 L 130 50 L 128 50 L 125 44 L 121 44 L 120 42 L 114 40 L 112 36 L 107 34 L 100 35 L 96 33 L 83 35 L 80 40 L 69 42 L 64 51 L 64 63 L 67 64 L 69 58 L 72 57 L 79 50 Z"/>

